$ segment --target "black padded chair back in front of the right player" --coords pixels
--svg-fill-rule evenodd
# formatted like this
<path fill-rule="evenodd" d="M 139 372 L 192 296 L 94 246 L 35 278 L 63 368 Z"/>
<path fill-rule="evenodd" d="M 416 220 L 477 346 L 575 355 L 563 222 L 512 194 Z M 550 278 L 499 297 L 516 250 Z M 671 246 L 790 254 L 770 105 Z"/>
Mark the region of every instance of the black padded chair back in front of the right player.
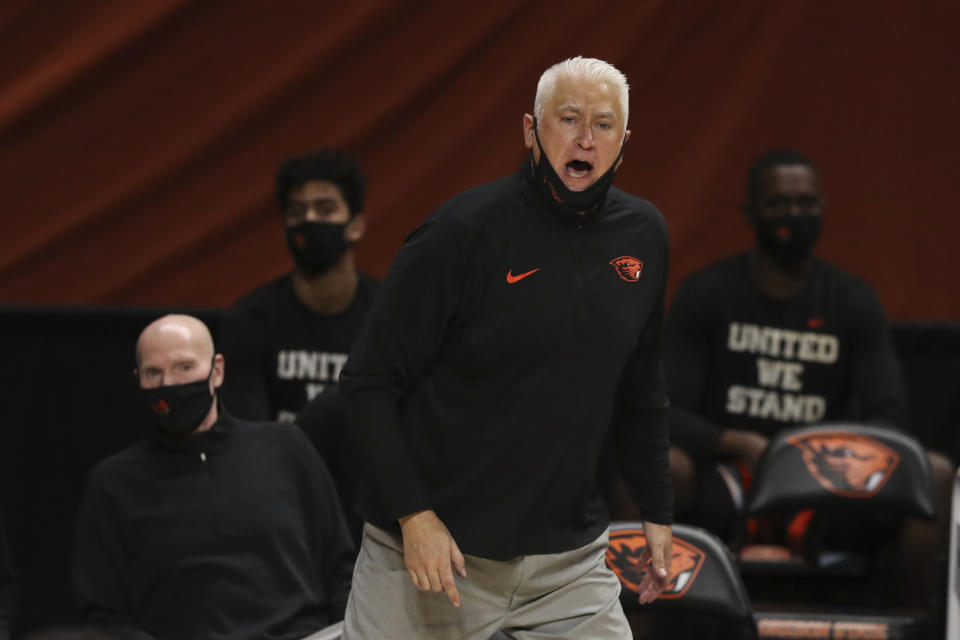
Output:
<path fill-rule="evenodd" d="M 747 496 L 747 515 L 841 507 L 935 517 L 930 463 L 914 438 L 856 423 L 782 431 Z"/>

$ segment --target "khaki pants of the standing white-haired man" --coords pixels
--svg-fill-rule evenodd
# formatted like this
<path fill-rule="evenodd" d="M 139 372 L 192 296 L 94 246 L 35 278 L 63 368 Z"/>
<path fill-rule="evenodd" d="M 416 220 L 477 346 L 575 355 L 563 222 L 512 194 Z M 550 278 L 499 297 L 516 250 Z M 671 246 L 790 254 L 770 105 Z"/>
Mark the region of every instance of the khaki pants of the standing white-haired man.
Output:
<path fill-rule="evenodd" d="M 607 569 L 607 533 L 563 553 L 506 562 L 465 556 L 454 574 L 462 605 L 419 591 L 403 566 L 403 544 L 364 525 L 343 640 L 629 640 L 620 583 Z"/>

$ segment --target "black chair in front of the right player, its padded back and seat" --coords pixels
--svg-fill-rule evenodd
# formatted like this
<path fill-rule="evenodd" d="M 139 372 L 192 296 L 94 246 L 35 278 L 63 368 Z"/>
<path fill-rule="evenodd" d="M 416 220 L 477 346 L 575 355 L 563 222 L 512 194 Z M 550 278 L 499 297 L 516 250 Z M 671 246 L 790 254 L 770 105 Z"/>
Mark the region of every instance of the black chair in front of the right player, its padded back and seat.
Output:
<path fill-rule="evenodd" d="M 760 460 L 745 515 L 811 509 L 935 518 L 924 448 L 900 431 L 856 423 L 781 432 Z M 926 637 L 926 612 L 872 599 L 871 589 L 885 574 L 877 571 L 877 558 L 868 550 L 831 549 L 811 536 L 800 549 L 745 545 L 738 560 L 751 593 L 773 597 L 753 602 L 761 638 Z M 776 589 L 778 579 L 787 588 Z M 842 604 L 828 595 L 848 583 L 851 595 Z M 763 587 L 755 589 L 756 584 Z M 770 595 L 777 591 L 779 596 Z"/>

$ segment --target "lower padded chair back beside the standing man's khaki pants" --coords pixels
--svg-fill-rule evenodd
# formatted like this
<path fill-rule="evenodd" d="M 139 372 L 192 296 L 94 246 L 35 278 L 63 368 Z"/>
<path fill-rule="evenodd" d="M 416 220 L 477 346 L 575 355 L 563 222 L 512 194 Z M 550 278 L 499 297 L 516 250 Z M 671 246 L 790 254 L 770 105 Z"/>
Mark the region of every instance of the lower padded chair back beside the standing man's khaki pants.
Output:
<path fill-rule="evenodd" d="M 753 608 L 730 551 L 712 533 L 673 525 L 673 578 L 663 594 L 641 608 L 638 585 L 645 573 L 640 554 L 647 539 L 640 522 L 610 525 L 607 566 L 620 579 L 620 600 L 627 611 L 691 613 L 751 621 Z"/>

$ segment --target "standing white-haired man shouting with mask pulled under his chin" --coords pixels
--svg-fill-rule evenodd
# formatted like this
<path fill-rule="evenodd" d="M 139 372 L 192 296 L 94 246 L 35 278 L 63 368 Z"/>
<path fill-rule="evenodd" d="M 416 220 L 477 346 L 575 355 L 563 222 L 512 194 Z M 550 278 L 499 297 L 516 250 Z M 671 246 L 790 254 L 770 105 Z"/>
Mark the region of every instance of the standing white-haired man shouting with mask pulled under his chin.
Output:
<path fill-rule="evenodd" d="M 341 375 L 366 458 L 346 640 L 630 638 L 595 486 L 608 432 L 643 510 L 640 601 L 669 581 L 667 234 L 611 188 L 627 110 L 612 65 L 554 65 L 520 170 L 398 253 Z"/>

